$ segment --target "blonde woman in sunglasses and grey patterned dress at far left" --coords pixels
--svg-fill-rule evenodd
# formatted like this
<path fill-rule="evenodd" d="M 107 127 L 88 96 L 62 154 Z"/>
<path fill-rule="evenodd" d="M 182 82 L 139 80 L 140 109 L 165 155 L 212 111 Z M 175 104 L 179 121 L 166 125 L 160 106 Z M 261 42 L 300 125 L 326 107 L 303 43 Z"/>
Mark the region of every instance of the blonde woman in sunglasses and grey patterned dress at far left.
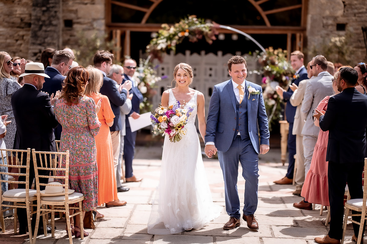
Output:
<path fill-rule="evenodd" d="M 10 76 L 10 72 L 14 70 L 13 59 L 7 52 L 0 52 L 0 114 L 7 115 L 8 121 L 13 123 L 7 126 L 6 136 L 3 138 L 8 149 L 13 149 L 15 131 L 17 125 L 14 119 L 13 108 L 11 106 L 11 96 L 14 91 L 21 88 L 17 79 Z"/>

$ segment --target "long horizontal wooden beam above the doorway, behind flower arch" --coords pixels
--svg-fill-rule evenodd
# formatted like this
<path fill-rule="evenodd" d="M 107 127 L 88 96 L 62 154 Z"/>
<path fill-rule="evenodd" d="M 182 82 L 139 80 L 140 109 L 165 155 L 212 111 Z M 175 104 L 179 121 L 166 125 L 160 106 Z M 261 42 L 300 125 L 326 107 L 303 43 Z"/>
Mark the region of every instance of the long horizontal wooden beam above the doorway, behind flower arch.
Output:
<path fill-rule="evenodd" d="M 111 23 L 106 26 L 107 29 L 120 29 L 120 30 L 130 30 L 130 31 L 140 31 L 140 32 L 156 32 L 161 29 L 161 24 L 138 24 L 138 23 Z M 305 27 L 299 26 L 240 26 L 240 25 L 230 25 L 235 29 L 243 31 L 247 34 L 288 34 L 288 33 L 304 33 L 306 31 Z M 234 33 L 227 29 L 218 29 L 219 33 Z"/>

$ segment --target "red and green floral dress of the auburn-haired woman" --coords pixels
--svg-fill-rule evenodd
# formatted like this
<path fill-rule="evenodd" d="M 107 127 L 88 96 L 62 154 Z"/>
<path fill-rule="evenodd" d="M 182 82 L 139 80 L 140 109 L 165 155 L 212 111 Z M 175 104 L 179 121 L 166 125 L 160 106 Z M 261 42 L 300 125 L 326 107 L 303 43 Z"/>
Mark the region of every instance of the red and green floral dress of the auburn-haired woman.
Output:
<path fill-rule="evenodd" d="M 69 189 L 84 194 L 83 211 L 90 211 L 97 207 L 98 169 L 94 136 L 101 127 L 94 100 L 83 96 L 77 105 L 70 106 L 61 98 L 56 100 L 54 112 L 62 125 L 60 151 L 70 150 Z M 64 160 L 65 157 L 65 164 Z M 62 173 L 65 172 L 58 171 L 57 175 Z"/>

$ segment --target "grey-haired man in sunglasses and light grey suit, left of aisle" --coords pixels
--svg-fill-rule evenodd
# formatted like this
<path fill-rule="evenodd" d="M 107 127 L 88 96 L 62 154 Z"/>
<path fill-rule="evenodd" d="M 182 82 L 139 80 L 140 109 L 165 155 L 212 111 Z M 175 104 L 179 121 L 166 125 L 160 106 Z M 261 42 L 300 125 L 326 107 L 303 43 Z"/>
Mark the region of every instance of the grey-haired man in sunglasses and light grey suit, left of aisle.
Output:
<path fill-rule="evenodd" d="M 124 68 L 121 65 L 114 64 L 110 70 L 110 73 L 107 75 L 108 78 L 111 78 L 115 81 L 116 88 L 118 89 L 122 80 L 124 78 Z M 119 164 L 117 165 L 116 170 L 116 184 L 118 192 L 128 191 L 130 188 L 123 187 L 121 185 L 121 165 L 122 165 L 122 157 L 124 152 L 124 136 L 126 135 L 126 127 L 125 127 L 125 119 L 126 115 L 130 113 L 131 110 L 131 98 L 132 93 L 129 94 L 127 92 L 127 98 L 124 105 L 120 106 L 120 119 L 121 119 L 121 131 L 120 131 L 120 154 L 119 154 Z"/>

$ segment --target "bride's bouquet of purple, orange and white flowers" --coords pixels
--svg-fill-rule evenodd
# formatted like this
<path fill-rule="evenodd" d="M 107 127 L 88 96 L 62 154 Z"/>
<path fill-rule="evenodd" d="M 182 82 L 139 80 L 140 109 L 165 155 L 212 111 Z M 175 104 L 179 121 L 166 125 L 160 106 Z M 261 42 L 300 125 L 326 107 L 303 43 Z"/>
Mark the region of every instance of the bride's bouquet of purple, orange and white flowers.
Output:
<path fill-rule="evenodd" d="M 193 106 L 180 105 L 180 102 L 176 101 L 174 105 L 168 108 L 159 105 L 158 108 L 153 112 L 154 115 L 150 115 L 150 121 L 154 126 L 153 132 L 161 133 L 168 136 L 173 136 L 170 138 L 171 142 L 179 142 L 182 139 L 182 135 L 185 135 L 184 127 L 187 124 L 189 116 L 193 111 Z"/>

